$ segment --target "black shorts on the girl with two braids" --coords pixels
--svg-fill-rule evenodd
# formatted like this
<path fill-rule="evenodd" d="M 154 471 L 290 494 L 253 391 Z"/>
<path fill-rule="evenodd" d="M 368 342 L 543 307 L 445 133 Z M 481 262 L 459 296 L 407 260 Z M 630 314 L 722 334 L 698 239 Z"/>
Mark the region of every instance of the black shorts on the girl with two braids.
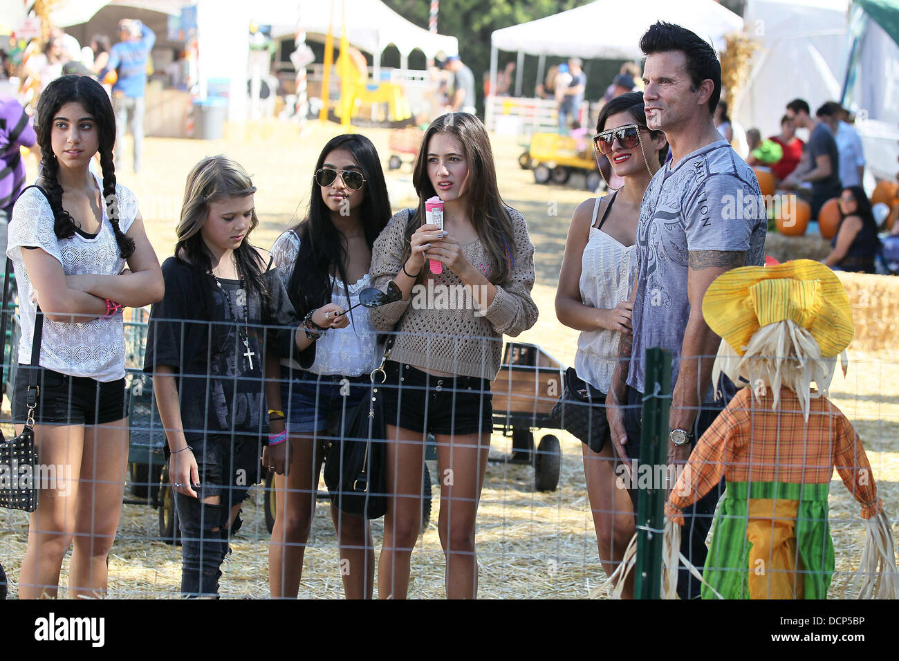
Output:
<path fill-rule="evenodd" d="M 125 380 L 103 383 L 89 377 L 70 377 L 41 367 L 38 374 L 40 394 L 34 411 L 36 424 L 106 424 L 123 419 Z M 13 388 L 13 422 L 28 419 L 25 395 L 31 365 L 19 365 Z"/>

